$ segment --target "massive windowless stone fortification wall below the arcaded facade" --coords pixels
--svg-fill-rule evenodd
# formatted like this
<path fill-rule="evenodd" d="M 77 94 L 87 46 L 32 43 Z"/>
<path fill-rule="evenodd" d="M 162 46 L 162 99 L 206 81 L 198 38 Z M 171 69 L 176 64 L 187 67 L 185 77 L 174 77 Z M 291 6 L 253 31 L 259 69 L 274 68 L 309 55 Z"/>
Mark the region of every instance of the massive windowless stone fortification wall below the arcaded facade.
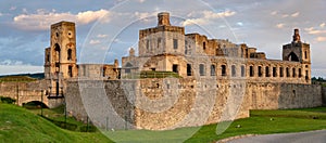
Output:
<path fill-rule="evenodd" d="M 73 81 L 66 103 L 75 117 L 85 120 L 88 109 L 103 128 L 165 130 L 246 118 L 249 109 L 321 106 L 322 87 L 193 78 Z"/>

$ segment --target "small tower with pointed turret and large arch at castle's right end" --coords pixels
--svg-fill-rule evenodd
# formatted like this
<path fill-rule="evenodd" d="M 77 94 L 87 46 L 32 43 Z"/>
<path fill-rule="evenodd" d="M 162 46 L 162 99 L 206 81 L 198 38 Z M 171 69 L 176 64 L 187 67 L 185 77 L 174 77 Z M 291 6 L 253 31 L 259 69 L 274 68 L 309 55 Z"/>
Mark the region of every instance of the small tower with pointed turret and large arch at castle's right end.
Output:
<path fill-rule="evenodd" d="M 294 29 L 292 42 L 283 46 L 283 61 L 300 62 L 302 67 L 299 68 L 299 77 L 311 83 L 310 44 L 301 41 L 299 29 Z"/>

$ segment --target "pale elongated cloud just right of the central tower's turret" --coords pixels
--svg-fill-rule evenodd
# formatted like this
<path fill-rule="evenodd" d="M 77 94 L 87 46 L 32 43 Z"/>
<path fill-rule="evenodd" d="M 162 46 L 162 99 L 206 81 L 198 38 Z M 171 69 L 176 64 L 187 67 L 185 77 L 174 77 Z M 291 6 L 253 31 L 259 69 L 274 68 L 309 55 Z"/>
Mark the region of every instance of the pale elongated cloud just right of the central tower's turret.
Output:
<path fill-rule="evenodd" d="M 236 14 L 235 11 L 229 11 L 229 10 L 226 10 L 224 12 L 218 12 L 218 13 L 215 13 L 213 11 L 192 12 L 192 13 L 189 13 L 187 16 L 189 16 L 189 17 L 196 16 L 199 18 L 188 18 L 188 20 L 184 21 L 181 23 L 181 25 L 183 26 L 189 26 L 189 25 L 193 25 L 193 24 L 206 25 L 212 20 L 228 17 L 228 16 L 233 16 L 235 14 Z"/>

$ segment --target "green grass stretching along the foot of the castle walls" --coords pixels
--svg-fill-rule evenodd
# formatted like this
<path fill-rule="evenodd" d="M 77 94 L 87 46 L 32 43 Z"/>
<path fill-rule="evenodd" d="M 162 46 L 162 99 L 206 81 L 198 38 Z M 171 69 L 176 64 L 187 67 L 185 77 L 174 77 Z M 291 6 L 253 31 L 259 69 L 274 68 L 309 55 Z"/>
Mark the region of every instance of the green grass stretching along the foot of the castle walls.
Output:
<path fill-rule="evenodd" d="M 45 109 L 45 115 L 60 114 L 61 109 Z M 34 113 L 33 113 L 34 112 Z M 15 105 L 0 103 L 0 142 L 112 142 L 102 133 L 77 132 L 61 129 L 36 116 L 39 110 L 28 110 Z M 58 115 L 59 119 L 62 115 Z M 60 117 L 61 116 L 61 117 Z M 74 121 L 73 118 L 68 122 Z M 237 126 L 240 125 L 240 128 Z M 216 134 L 216 125 L 199 128 L 180 128 L 170 131 L 120 130 L 104 134 L 117 142 L 214 142 L 241 134 L 269 134 L 326 129 L 326 107 L 251 110 L 251 117 L 230 123 L 222 134 Z M 191 136 L 188 139 L 188 136 Z"/>

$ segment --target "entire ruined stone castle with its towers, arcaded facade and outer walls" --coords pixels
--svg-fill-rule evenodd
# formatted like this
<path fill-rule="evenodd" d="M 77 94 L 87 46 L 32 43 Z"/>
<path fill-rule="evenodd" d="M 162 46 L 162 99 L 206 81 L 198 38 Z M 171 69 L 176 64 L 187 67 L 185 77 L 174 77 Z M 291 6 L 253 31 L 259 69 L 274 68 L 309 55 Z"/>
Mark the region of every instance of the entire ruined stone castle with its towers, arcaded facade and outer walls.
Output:
<path fill-rule="evenodd" d="M 158 14 L 155 27 L 139 30 L 138 55 L 130 48 L 121 67 L 117 60 L 77 64 L 74 23 L 51 25 L 50 42 L 38 83 L 55 101 L 49 104 L 64 101 L 72 116 L 90 117 L 99 127 L 201 126 L 249 117 L 249 109 L 321 106 L 325 96 L 319 84 L 311 84 L 310 44 L 299 29 L 283 46 L 283 60 L 268 60 L 246 43 L 185 34 L 166 12 Z"/>

